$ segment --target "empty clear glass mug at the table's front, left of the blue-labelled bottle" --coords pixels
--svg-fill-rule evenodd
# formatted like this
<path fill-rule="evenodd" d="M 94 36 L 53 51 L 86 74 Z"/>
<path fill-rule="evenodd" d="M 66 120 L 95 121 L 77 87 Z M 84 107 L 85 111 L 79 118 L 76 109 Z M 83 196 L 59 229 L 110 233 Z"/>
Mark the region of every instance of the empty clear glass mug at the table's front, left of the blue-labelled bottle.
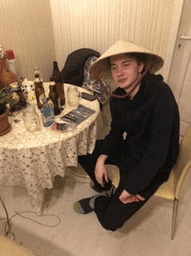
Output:
<path fill-rule="evenodd" d="M 27 131 L 38 131 L 40 130 L 39 117 L 35 110 L 35 105 L 28 105 L 23 109 L 23 123 Z"/>

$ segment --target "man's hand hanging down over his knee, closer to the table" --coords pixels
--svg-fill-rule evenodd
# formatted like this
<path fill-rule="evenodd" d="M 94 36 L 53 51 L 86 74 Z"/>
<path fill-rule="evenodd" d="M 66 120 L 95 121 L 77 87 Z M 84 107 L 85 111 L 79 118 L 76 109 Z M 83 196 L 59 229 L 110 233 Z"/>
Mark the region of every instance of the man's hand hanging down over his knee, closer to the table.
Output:
<path fill-rule="evenodd" d="M 97 159 L 97 162 L 95 165 L 95 179 L 97 180 L 97 182 L 100 185 L 102 185 L 102 187 L 104 186 L 103 177 L 106 182 L 109 182 L 108 174 L 107 174 L 107 171 L 106 171 L 105 165 L 104 165 L 106 158 L 108 158 L 108 157 L 105 155 L 100 156 Z"/>

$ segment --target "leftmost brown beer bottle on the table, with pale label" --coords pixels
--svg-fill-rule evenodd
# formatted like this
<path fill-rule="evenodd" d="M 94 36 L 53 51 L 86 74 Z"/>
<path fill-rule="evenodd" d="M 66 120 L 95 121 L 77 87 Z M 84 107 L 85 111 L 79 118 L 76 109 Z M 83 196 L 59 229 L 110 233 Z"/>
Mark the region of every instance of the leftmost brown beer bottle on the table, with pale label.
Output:
<path fill-rule="evenodd" d="M 43 98 L 45 98 L 45 92 L 43 88 L 43 82 L 40 80 L 39 74 L 35 74 L 35 94 L 37 107 L 40 110 L 43 106 Z"/>

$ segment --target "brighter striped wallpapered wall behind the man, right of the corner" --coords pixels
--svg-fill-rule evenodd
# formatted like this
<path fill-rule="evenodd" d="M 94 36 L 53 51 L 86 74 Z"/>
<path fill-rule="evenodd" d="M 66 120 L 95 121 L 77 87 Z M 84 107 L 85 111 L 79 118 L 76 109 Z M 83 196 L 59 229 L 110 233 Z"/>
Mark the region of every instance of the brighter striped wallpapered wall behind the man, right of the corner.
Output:
<path fill-rule="evenodd" d="M 120 38 L 165 58 L 169 41 L 175 44 L 170 30 L 178 29 L 174 17 L 181 8 L 176 5 L 177 0 L 50 0 L 56 59 L 63 68 L 71 51 L 88 47 L 102 54 Z"/>

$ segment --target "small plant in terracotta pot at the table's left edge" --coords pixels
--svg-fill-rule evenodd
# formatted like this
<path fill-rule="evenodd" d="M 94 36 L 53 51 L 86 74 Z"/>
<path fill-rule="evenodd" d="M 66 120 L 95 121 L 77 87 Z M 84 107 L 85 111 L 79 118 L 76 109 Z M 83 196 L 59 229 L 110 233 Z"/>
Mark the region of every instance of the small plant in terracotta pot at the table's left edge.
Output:
<path fill-rule="evenodd" d="M 10 106 L 17 103 L 13 93 L 7 92 L 6 88 L 0 90 L 0 136 L 10 131 L 8 114 Z"/>

